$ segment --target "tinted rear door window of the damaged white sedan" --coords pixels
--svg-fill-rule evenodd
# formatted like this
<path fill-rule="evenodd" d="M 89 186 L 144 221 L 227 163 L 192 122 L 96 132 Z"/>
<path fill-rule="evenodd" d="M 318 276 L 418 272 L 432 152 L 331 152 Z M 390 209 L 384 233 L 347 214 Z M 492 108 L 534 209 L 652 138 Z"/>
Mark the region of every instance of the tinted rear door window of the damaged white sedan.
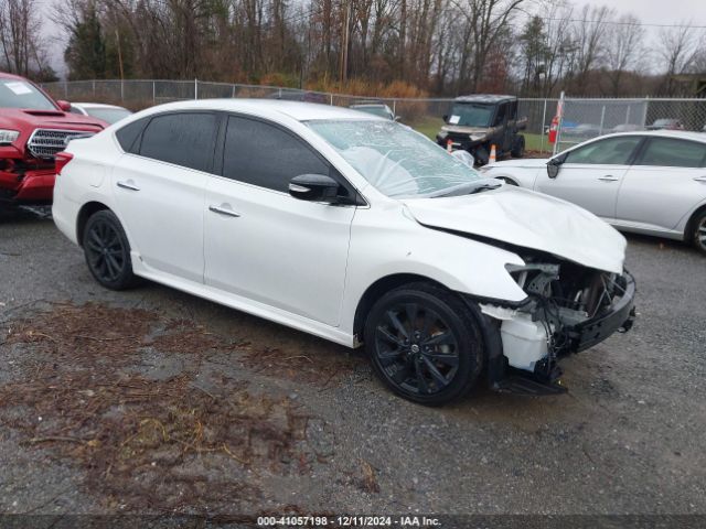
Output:
<path fill-rule="evenodd" d="M 183 168 L 210 171 L 215 132 L 215 114 L 157 116 L 142 132 L 140 155 Z"/>

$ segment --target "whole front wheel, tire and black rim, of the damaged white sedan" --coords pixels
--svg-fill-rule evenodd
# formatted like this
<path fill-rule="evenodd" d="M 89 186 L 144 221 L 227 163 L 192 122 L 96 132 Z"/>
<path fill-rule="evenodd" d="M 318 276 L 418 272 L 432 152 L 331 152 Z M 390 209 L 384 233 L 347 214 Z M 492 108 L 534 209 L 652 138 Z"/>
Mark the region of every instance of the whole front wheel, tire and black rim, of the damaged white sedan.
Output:
<path fill-rule="evenodd" d="M 482 336 L 478 319 L 458 295 L 428 283 L 383 295 L 364 330 L 381 380 L 400 397 L 428 406 L 471 389 L 483 364 Z"/>

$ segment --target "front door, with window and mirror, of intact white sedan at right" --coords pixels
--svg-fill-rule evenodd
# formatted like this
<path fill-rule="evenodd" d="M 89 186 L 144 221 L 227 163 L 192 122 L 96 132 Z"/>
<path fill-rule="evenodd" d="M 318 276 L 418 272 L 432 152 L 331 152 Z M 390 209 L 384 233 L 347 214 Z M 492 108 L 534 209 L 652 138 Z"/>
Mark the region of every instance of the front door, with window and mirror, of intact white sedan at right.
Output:
<path fill-rule="evenodd" d="M 566 154 L 556 179 L 541 171 L 535 191 L 573 202 L 612 220 L 618 190 L 641 142 L 639 136 L 619 136 L 580 145 Z"/>

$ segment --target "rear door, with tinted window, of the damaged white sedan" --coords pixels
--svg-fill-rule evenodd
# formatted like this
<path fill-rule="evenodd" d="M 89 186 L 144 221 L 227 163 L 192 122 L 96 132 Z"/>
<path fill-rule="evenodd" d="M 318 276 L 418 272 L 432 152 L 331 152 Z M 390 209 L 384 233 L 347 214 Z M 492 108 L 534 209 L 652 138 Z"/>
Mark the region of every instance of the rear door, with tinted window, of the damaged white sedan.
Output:
<path fill-rule="evenodd" d="M 148 267 L 203 282 L 203 203 L 218 116 L 150 119 L 113 171 L 118 214 Z"/>

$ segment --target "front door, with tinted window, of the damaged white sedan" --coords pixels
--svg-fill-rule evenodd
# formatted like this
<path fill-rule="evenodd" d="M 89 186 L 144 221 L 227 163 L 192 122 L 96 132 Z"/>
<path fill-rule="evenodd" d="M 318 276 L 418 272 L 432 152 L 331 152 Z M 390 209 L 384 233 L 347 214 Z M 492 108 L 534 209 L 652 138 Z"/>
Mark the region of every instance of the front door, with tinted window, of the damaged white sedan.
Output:
<path fill-rule="evenodd" d="M 204 207 L 206 284 L 338 325 L 355 206 L 300 201 L 288 186 L 342 177 L 292 132 L 239 116 L 227 118 L 222 165 Z"/>

